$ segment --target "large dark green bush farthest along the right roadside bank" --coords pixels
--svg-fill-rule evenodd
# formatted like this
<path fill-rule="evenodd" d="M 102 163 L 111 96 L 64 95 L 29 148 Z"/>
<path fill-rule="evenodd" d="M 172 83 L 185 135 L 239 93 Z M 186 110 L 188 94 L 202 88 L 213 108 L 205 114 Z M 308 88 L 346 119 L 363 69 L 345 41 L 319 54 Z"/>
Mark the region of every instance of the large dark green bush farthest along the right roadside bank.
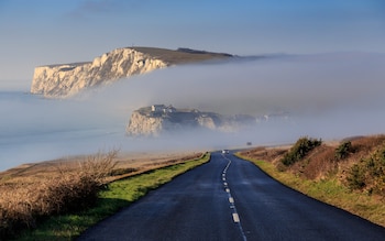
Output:
<path fill-rule="evenodd" d="M 293 165 L 294 163 L 302 160 L 311 150 L 322 144 L 321 140 L 309 139 L 307 136 L 298 139 L 295 145 L 284 155 L 280 162 L 286 165 Z"/>

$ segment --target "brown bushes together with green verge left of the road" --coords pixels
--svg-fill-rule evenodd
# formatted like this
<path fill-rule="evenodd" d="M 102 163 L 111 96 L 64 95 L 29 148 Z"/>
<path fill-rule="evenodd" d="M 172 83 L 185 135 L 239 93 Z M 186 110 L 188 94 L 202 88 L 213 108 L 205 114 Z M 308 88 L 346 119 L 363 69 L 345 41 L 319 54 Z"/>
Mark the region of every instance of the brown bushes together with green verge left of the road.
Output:
<path fill-rule="evenodd" d="M 118 168 L 118 151 L 89 155 L 77 168 L 56 166 L 38 178 L 0 179 L 0 240 L 72 240 L 148 190 L 209 161 L 170 160 L 152 169 Z M 21 234 L 20 234 L 21 233 Z"/>

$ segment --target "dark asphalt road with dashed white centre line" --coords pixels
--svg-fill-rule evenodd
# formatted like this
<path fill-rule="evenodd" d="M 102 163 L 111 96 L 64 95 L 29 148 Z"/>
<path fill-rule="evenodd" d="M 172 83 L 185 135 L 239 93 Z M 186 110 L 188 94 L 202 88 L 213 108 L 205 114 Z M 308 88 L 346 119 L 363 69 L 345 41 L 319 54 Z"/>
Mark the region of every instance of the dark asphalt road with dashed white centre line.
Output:
<path fill-rule="evenodd" d="M 151 191 L 78 240 L 385 240 L 385 228 L 283 186 L 232 154 Z"/>

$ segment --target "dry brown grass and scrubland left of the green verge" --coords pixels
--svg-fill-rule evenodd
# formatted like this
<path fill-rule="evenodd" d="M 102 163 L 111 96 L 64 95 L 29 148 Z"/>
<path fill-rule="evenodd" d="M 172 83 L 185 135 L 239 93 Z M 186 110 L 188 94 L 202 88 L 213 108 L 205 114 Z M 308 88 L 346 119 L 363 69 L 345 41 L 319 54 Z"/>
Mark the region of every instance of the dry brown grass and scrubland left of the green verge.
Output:
<path fill-rule="evenodd" d="M 51 215 L 95 204 L 107 183 L 148 169 L 182 163 L 201 153 L 118 156 L 118 151 L 24 164 L 0 173 L 0 240 L 34 228 Z"/>

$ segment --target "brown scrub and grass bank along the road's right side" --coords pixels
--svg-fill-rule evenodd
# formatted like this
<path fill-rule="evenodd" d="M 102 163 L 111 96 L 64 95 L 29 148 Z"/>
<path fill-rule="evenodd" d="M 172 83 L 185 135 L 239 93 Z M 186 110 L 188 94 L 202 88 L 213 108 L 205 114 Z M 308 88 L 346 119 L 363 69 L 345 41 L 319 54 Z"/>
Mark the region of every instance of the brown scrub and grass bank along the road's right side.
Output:
<path fill-rule="evenodd" d="M 289 147 L 239 153 L 283 184 L 385 227 L 385 135 L 311 144 L 302 155 L 300 138 Z M 287 156 L 299 156 L 287 162 Z"/>

